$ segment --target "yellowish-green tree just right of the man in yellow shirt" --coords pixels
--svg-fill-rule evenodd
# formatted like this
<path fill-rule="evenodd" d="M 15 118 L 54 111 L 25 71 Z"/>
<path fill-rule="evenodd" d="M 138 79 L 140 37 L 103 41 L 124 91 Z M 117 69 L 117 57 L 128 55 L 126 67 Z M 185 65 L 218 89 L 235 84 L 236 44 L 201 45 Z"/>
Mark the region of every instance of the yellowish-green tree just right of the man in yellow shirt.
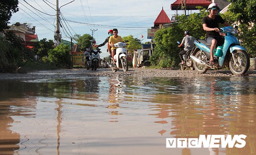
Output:
<path fill-rule="evenodd" d="M 141 49 L 141 41 L 138 38 L 133 38 L 132 35 L 124 36 L 123 40 L 128 40 L 128 45 L 126 46 L 127 51 L 132 55 L 133 57 L 133 50 Z"/>

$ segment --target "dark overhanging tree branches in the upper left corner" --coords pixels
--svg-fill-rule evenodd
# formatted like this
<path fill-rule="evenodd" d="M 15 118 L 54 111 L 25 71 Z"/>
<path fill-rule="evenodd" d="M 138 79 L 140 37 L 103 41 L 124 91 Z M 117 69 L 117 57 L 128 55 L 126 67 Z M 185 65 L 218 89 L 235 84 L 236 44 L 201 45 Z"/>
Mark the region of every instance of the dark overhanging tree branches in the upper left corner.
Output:
<path fill-rule="evenodd" d="M 8 23 L 12 13 L 19 11 L 18 0 L 1 0 L 0 1 L 0 32 L 8 29 Z"/>

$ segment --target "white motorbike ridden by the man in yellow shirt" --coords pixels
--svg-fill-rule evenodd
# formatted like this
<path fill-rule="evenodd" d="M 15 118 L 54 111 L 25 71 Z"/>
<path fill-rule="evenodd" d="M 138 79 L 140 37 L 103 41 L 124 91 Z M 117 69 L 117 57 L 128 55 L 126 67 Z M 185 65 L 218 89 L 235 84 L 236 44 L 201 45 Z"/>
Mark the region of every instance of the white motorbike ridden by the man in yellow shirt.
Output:
<path fill-rule="evenodd" d="M 126 43 L 118 42 L 114 44 L 116 49 L 116 55 L 114 55 L 114 59 L 116 59 L 116 63 L 114 63 L 114 59 L 111 57 L 111 62 L 108 63 L 109 67 L 113 72 L 116 72 L 118 69 L 123 68 L 123 71 L 128 71 L 128 62 L 127 62 L 127 50 L 124 48 Z"/>

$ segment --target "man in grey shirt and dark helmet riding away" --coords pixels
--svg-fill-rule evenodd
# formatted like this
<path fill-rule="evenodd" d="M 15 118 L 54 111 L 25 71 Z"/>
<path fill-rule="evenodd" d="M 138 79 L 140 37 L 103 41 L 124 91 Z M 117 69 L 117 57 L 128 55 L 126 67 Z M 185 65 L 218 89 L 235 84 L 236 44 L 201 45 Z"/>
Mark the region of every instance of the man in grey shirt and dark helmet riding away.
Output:
<path fill-rule="evenodd" d="M 184 32 L 184 38 L 182 39 L 181 44 L 178 47 L 181 47 L 184 45 L 184 49 L 182 51 L 180 51 L 179 56 L 181 59 L 181 63 L 179 65 L 183 65 L 184 64 L 184 60 L 182 58 L 182 55 L 186 54 L 187 51 L 191 50 L 194 47 L 194 41 L 195 38 L 193 36 L 189 35 L 189 31 L 185 31 Z"/>

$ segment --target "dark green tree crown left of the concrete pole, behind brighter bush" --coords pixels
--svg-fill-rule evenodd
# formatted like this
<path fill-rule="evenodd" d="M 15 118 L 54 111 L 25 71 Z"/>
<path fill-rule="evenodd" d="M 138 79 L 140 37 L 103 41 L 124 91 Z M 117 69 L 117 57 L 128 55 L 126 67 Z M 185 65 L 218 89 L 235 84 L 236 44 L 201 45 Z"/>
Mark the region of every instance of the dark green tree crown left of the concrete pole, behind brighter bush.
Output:
<path fill-rule="evenodd" d="M 46 38 L 34 44 L 34 51 L 38 55 L 39 60 L 41 60 L 45 56 L 48 56 L 48 51 L 50 49 L 54 49 L 53 45 L 53 40 L 47 41 Z"/>

